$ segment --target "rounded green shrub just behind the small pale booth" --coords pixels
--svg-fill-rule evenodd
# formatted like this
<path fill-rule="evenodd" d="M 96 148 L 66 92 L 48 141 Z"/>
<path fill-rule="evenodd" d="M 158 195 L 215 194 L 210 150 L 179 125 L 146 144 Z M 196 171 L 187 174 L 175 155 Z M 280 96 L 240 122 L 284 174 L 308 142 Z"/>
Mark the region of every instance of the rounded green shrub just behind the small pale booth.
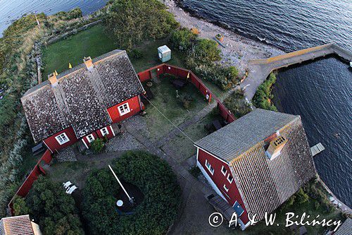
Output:
<path fill-rule="evenodd" d="M 182 52 L 189 52 L 198 35 L 195 35 L 191 30 L 182 28 L 180 30 L 174 30 L 170 36 L 170 45 L 175 49 L 179 49 Z"/>

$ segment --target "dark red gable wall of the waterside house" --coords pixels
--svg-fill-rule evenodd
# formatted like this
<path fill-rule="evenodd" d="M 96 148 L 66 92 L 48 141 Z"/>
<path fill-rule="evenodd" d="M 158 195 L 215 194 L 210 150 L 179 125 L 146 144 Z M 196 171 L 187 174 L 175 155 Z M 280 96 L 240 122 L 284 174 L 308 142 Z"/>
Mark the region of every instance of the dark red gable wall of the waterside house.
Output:
<path fill-rule="evenodd" d="M 208 168 L 206 168 L 206 159 L 210 163 L 211 167 L 213 167 L 213 169 L 214 169 L 213 175 L 210 174 L 210 172 L 208 171 Z M 241 215 L 241 220 L 242 220 L 242 222 L 244 222 L 244 224 L 246 224 L 249 221 L 249 219 L 247 216 L 246 207 L 244 206 L 243 200 L 241 198 L 241 195 L 239 194 L 239 190 L 236 186 L 236 183 L 234 180 L 232 181 L 232 183 L 227 181 L 227 175 L 228 174 L 232 175 L 229 165 L 225 162 L 222 162 L 220 159 L 213 157 L 212 155 L 208 154 L 207 152 L 204 152 L 200 148 L 199 148 L 197 160 L 201 164 L 201 166 L 204 168 L 204 170 L 207 172 L 208 176 L 210 176 L 210 179 L 213 180 L 215 185 L 221 191 L 222 195 L 225 196 L 225 198 L 227 199 L 227 202 L 231 206 L 233 206 L 236 201 L 239 202 L 239 205 L 241 205 L 241 207 L 244 209 L 244 212 Z M 225 169 L 227 170 L 226 176 L 224 176 L 224 174 L 222 174 L 222 172 L 221 172 L 222 166 L 224 166 Z M 225 191 L 224 184 L 227 186 L 227 188 L 229 188 L 228 192 Z"/>

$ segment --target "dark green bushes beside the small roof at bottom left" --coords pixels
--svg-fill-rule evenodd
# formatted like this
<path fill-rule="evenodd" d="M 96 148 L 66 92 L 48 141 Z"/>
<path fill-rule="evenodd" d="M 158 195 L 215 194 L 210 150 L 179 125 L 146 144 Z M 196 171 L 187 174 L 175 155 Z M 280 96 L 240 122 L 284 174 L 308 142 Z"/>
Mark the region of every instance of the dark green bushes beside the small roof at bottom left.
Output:
<path fill-rule="evenodd" d="M 60 183 L 39 176 L 25 199 L 15 198 L 15 215 L 30 214 L 44 234 L 84 234 L 75 201 Z"/>

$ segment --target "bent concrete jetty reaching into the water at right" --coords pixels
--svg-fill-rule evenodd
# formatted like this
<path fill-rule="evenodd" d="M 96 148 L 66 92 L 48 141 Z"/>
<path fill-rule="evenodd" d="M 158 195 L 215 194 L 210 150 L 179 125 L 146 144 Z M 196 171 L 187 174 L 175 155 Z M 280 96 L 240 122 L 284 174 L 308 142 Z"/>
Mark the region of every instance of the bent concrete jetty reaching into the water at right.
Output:
<path fill-rule="evenodd" d="M 249 76 L 241 83 L 241 88 L 246 88 L 245 95 L 249 100 L 252 100 L 258 86 L 263 83 L 272 71 L 294 64 L 301 64 L 304 61 L 317 59 L 329 54 L 337 54 L 341 59 L 348 62 L 352 61 L 352 53 L 334 43 L 273 56 L 268 59 L 255 59 L 249 61 Z"/>

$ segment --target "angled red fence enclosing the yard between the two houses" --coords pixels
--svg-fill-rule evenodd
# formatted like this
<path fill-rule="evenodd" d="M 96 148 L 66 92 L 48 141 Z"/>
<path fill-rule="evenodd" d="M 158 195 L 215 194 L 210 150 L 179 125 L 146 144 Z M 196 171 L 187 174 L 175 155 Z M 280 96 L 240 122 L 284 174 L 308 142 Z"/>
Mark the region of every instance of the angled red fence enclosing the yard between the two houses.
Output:
<path fill-rule="evenodd" d="M 196 88 L 203 94 L 203 96 L 206 97 L 206 100 L 208 100 L 209 103 L 212 97 L 216 100 L 216 102 L 218 103 L 219 113 L 227 122 L 230 123 L 235 120 L 234 115 L 231 114 L 231 112 L 225 107 L 225 105 L 222 104 L 222 102 L 220 102 L 220 100 L 215 97 L 212 92 L 210 92 L 210 90 L 206 87 L 206 85 L 204 85 L 201 79 L 199 79 L 192 71 L 177 66 L 172 66 L 170 64 L 161 64 L 153 68 L 149 68 L 146 71 L 138 73 L 139 80 L 141 80 L 141 82 L 144 82 L 146 80 L 151 79 L 152 71 L 154 70 L 156 70 L 156 76 L 159 76 L 163 73 L 168 73 L 172 74 L 173 76 L 189 79 L 191 83 L 195 85 Z"/>

